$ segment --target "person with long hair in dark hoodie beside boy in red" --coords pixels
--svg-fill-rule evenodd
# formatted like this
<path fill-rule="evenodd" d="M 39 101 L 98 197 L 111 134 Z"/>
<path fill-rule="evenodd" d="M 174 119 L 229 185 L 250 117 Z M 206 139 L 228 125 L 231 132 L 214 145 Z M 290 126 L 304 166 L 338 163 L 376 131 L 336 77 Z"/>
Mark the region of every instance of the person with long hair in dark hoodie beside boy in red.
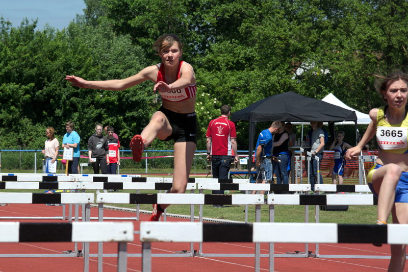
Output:
<path fill-rule="evenodd" d="M 108 174 L 109 146 L 108 138 L 102 134 L 102 125 L 95 126 L 95 133 L 88 140 L 88 157 L 92 164 L 94 174 Z"/>

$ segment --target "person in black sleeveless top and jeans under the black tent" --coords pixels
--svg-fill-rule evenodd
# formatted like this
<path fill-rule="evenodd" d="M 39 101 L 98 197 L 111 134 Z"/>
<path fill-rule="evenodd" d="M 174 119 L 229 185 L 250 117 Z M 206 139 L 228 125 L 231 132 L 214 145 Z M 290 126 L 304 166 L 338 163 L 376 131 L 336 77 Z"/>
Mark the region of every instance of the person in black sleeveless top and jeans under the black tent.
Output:
<path fill-rule="evenodd" d="M 283 123 L 281 123 L 283 126 Z M 273 172 L 276 176 L 277 184 L 289 184 L 288 172 L 290 170 L 289 157 L 289 133 L 284 127 L 280 128 L 273 137 Z"/>

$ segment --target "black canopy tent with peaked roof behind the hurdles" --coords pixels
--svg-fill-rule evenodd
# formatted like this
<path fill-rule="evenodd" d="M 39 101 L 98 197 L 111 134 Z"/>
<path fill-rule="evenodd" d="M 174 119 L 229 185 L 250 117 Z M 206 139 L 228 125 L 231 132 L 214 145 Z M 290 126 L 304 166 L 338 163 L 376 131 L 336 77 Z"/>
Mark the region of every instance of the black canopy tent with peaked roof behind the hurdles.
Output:
<path fill-rule="evenodd" d="M 357 130 L 357 116 L 354 111 L 326 103 L 321 100 L 299 95 L 294 92 L 279 93 L 255 102 L 234 112 L 231 120 L 249 121 L 248 171 L 252 164 L 253 139 L 257 122 L 272 121 L 354 121 Z"/>

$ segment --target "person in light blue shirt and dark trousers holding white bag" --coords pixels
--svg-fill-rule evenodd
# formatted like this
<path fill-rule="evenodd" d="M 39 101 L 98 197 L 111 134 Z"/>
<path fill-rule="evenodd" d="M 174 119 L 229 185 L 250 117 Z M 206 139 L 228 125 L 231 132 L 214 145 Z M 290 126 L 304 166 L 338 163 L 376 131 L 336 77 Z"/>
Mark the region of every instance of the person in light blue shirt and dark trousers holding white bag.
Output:
<path fill-rule="evenodd" d="M 73 160 L 68 161 L 68 174 L 78 174 L 78 163 L 80 161 L 80 135 L 73 130 L 73 122 L 68 121 L 65 124 L 67 133 L 62 139 L 62 147 L 73 148 Z"/>

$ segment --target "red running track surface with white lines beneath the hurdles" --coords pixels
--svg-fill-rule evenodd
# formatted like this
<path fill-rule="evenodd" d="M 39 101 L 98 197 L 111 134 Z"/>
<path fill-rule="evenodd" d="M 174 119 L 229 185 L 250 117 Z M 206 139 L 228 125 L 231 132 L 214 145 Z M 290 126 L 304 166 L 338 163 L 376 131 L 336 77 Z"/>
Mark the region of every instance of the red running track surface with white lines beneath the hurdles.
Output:
<path fill-rule="evenodd" d="M 44 204 L 11 204 L 0 207 L 0 216 L 61 216 L 61 206 L 45 206 Z M 66 215 L 68 208 L 66 207 Z M 91 216 L 97 216 L 97 209 L 91 208 Z M 129 212 L 105 209 L 107 217 L 130 217 Z M 141 220 L 147 220 L 149 215 L 141 214 Z M 171 221 L 182 219 L 169 218 Z M 2 219 L 1 221 L 12 221 Z M 14 220 L 16 221 L 16 220 Z M 53 221 L 61 220 L 33 220 L 19 221 Z M 134 221 L 135 230 L 139 230 L 139 221 Z M 189 250 L 189 243 L 160 243 L 151 244 L 152 253 L 174 253 Z M 81 250 L 82 244 L 79 244 Z M 269 244 L 261 244 L 261 253 L 268 254 Z M 198 250 L 198 243 L 194 244 Z M 38 242 L 38 243 L 2 243 L 0 254 L 53 254 L 74 250 L 74 243 L 70 242 Z M 304 251 L 304 244 L 275 243 L 275 254 L 286 252 Z M 309 251 L 315 251 L 314 244 L 309 244 Z M 127 244 L 128 253 L 141 253 L 139 235 L 135 235 L 134 242 Z M 97 243 L 91 243 L 90 253 L 97 253 Z M 117 253 L 117 243 L 104 243 L 104 253 Z M 254 253 L 254 243 L 203 243 L 203 253 Z M 383 245 L 377 248 L 371 244 L 319 244 L 320 254 L 338 255 L 390 255 L 390 246 Z M 97 271 L 97 258 L 90 258 L 90 271 Z M 83 271 L 84 259 L 82 257 L 65 258 L 1 258 L 0 272 L 9 271 Z M 327 258 L 275 258 L 275 271 L 386 271 L 388 259 L 327 259 Z M 269 259 L 261 258 L 261 271 L 268 271 Z M 407 269 L 407 266 L 405 266 Z M 116 271 L 117 260 L 113 257 L 104 258 L 104 271 Z M 127 271 L 141 271 L 141 258 L 129 257 Z M 152 271 L 254 271 L 254 258 L 218 258 L 218 257 L 154 257 L 152 258 Z"/>

